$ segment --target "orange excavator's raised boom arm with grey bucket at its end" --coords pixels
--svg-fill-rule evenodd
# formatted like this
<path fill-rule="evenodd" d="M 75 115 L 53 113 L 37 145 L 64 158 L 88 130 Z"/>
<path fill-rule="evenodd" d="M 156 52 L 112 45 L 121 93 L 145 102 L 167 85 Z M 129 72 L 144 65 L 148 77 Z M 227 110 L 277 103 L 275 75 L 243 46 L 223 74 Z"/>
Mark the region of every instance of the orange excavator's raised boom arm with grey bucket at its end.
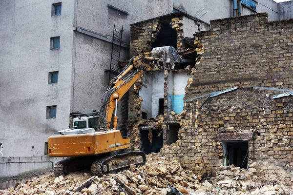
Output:
<path fill-rule="evenodd" d="M 106 125 L 110 128 L 113 112 L 117 106 L 117 102 L 126 94 L 135 81 L 142 76 L 144 71 L 156 71 L 161 69 L 159 61 L 172 65 L 174 63 L 182 62 L 181 57 L 172 46 L 157 47 L 152 50 L 152 57 L 145 57 L 143 55 L 135 56 L 129 60 L 129 65 L 117 77 L 113 78 L 106 90 L 103 99 L 100 115 Z M 151 61 L 156 61 L 154 64 Z M 117 129 L 118 118 L 113 117 L 113 127 Z"/>

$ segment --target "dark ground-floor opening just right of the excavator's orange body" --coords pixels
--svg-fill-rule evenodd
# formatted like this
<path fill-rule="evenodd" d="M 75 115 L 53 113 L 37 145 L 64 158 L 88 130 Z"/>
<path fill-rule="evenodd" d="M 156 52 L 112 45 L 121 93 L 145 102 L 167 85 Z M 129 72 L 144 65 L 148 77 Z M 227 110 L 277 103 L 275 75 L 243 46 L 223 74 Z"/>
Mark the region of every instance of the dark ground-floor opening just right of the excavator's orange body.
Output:
<path fill-rule="evenodd" d="M 152 143 L 150 144 L 148 140 L 149 131 L 142 130 L 141 132 L 141 142 L 142 142 L 142 151 L 147 154 L 152 152 L 158 153 L 163 147 L 163 134 L 161 133 L 161 129 L 152 130 Z"/>

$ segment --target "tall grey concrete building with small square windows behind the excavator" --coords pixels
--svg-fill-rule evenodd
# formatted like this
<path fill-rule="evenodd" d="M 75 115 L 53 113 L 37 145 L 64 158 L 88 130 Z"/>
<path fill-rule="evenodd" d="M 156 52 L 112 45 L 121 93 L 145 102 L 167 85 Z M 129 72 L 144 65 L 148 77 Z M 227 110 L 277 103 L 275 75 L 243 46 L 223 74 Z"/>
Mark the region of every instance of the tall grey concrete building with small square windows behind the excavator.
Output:
<path fill-rule="evenodd" d="M 254 10 L 243 4 L 243 14 L 292 18 L 287 10 L 292 1 L 253 2 Z M 114 25 L 118 31 L 124 26 L 120 60 L 126 60 L 131 23 L 176 10 L 209 23 L 231 17 L 232 9 L 232 0 L 1 0 L 2 186 L 51 171 L 59 159 L 44 154 L 47 137 L 68 128 L 71 113 L 99 110 L 109 80 L 105 69 Z M 119 107 L 123 121 L 127 109 Z"/>

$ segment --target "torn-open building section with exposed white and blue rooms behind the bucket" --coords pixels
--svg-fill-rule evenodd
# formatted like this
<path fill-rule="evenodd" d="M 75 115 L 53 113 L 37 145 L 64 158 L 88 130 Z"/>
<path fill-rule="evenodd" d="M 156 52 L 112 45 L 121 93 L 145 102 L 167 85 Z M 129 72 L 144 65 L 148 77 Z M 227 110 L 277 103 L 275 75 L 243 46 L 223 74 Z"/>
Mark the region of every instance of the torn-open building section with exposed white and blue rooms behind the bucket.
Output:
<path fill-rule="evenodd" d="M 155 47 L 173 46 L 182 63 L 165 66 L 163 70 L 146 73 L 129 90 L 128 134 L 132 148 L 142 146 L 146 153 L 159 152 L 163 144 L 178 139 L 185 86 L 191 68 L 201 50 L 194 45 L 192 32 L 208 30 L 209 24 L 185 13 L 173 13 L 131 25 L 130 55 L 151 55 Z M 188 38 L 189 37 L 189 38 Z M 141 144 L 142 143 L 142 144 Z"/>

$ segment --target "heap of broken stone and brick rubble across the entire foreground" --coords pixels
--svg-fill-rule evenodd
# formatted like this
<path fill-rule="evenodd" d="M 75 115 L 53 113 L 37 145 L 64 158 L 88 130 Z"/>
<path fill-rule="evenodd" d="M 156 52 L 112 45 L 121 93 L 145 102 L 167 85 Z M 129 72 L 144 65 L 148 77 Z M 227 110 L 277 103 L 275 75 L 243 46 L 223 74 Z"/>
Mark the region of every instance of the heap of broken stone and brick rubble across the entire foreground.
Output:
<path fill-rule="evenodd" d="M 222 166 L 216 176 L 204 178 L 180 166 L 179 158 L 147 155 L 146 165 L 98 177 L 87 173 L 34 178 L 14 189 L 0 190 L 7 195 L 290 195 L 278 179 L 260 179 L 256 163 L 248 170 Z M 177 191 L 177 192 L 176 192 Z"/>

